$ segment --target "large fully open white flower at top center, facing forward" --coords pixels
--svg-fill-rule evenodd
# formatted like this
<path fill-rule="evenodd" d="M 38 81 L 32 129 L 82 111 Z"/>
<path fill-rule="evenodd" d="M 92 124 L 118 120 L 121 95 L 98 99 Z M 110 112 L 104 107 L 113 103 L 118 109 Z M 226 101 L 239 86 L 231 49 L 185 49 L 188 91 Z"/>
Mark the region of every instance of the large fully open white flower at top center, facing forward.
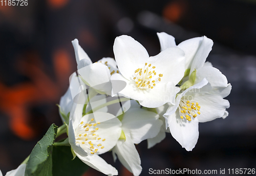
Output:
<path fill-rule="evenodd" d="M 176 84 L 185 71 L 184 53 L 178 47 L 165 49 L 149 57 L 146 49 L 130 36 L 115 39 L 114 54 L 119 72 L 112 80 L 126 82 L 120 95 L 138 100 L 140 105 L 156 108 L 167 102 L 174 104 L 179 88 Z M 114 87 L 113 87 L 114 89 Z"/>

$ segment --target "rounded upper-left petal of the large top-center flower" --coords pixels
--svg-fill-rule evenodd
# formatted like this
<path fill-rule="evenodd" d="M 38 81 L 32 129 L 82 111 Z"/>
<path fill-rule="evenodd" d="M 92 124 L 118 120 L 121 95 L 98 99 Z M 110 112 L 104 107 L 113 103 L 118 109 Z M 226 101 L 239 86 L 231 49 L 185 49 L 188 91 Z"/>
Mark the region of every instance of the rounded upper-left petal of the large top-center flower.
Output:
<path fill-rule="evenodd" d="M 130 79 L 134 71 L 144 65 L 149 57 L 138 41 L 126 35 L 115 39 L 113 49 L 118 69 L 126 79 Z"/>

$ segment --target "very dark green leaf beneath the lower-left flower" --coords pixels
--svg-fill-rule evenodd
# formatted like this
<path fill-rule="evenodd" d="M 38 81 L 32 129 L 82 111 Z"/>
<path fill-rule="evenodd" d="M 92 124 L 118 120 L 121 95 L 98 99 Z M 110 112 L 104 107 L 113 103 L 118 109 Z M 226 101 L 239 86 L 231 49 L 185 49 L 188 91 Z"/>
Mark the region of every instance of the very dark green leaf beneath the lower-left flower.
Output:
<path fill-rule="evenodd" d="M 74 160 L 69 146 L 53 146 L 53 176 L 80 176 L 89 168 L 78 157 Z"/>

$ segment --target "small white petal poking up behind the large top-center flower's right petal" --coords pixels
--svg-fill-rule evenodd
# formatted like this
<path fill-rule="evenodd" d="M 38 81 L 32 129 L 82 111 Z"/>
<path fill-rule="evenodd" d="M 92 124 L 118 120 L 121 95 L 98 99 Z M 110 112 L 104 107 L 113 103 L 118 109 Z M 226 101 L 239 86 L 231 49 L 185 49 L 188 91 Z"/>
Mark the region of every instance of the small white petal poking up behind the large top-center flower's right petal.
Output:
<path fill-rule="evenodd" d="M 175 38 L 169 34 L 166 34 L 165 32 L 157 33 L 161 51 L 164 51 L 164 49 L 168 47 L 176 47 Z"/>

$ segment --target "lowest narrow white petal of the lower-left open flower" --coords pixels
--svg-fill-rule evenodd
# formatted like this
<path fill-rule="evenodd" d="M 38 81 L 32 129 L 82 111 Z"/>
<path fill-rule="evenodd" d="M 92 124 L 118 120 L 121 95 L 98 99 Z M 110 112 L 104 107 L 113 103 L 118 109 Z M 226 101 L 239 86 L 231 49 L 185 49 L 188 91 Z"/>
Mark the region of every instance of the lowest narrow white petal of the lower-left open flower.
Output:
<path fill-rule="evenodd" d="M 88 166 L 94 168 L 95 170 L 98 170 L 106 175 L 112 176 L 117 175 L 118 171 L 115 167 L 112 165 L 106 163 L 105 160 L 103 160 L 98 155 L 89 155 L 87 157 L 82 157 L 79 154 L 77 154 L 77 157 L 84 163 L 86 163 Z"/>

